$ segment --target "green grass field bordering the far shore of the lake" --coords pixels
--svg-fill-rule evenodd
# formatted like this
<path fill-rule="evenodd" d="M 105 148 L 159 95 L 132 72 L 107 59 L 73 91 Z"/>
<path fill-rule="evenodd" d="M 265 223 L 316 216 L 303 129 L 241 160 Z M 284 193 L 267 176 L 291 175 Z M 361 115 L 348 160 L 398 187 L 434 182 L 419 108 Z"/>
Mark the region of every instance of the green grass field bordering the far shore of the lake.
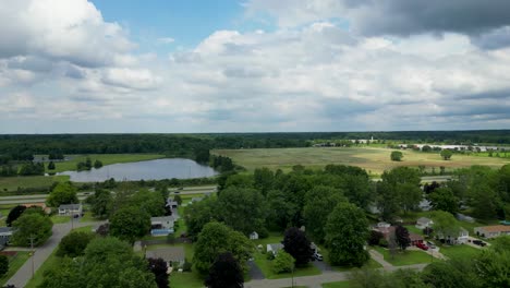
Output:
<path fill-rule="evenodd" d="M 37 155 L 38 157 L 48 157 L 48 155 Z M 81 161 L 85 161 L 87 157 L 90 160 L 100 160 L 102 165 L 111 165 L 118 163 L 133 163 L 133 161 L 145 161 L 145 160 L 153 160 L 153 159 L 160 159 L 165 158 L 165 155 L 161 154 L 89 154 L 89 155 L 65 155 L 65 157 L 70 158 L 66 161 L 56 161 L 54 163 L 54 170 L 51 172 L 63 172 L 63 171 L 72 171 L 76 170 L 76 165 Z M 46 169 L 48 172 L 48 169 Z"/>

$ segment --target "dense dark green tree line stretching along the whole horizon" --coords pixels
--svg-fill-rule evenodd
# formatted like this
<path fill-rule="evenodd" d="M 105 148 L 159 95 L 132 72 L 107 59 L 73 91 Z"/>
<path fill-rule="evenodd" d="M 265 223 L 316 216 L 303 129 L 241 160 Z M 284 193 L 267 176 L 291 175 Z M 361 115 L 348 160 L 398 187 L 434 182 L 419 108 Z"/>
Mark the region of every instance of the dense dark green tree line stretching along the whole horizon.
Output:
<path fill-rule="evenodd" d="M 167 153 L 194 158 L 203 147 L 278 148 L 305 147 L 313 140 L 402 140 L 416 143 L 510 144 L 510 130 L 399 131 L 399 132 L 306 132 L 217 134 L 51 134 L 0 135 L 0 164 L 32 160 L 34 154 Z M 5 157 L 8 160 L 5 160 Z M 205 157 L 202 157 L 205 158 Z"/>

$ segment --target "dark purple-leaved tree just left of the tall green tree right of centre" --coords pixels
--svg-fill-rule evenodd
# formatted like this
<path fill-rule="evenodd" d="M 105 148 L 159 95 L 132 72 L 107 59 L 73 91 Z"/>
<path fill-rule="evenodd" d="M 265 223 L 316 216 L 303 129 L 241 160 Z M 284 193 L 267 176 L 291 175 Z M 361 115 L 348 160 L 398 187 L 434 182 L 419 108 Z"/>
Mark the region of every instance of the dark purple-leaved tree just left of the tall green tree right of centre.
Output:
<path fill-rule="evenodd" d="M 305 232 L 295 227 L 287 229 L 283 237 L 283 250 L 295 259 L 296 266 L 305 266 L 314 255 Z"/>

